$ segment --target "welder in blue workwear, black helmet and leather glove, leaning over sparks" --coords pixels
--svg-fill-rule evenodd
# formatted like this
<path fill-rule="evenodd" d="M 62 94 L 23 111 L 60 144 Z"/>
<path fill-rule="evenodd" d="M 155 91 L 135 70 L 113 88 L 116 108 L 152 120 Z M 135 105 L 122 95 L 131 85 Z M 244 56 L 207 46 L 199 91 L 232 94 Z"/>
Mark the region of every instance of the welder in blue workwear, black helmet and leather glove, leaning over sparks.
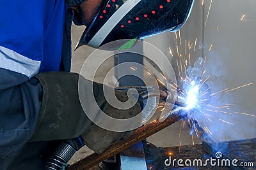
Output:
<path fill-rule="evenodd" d="M 86 117 L 79 102 L 79 75 L 70 73 L 72 22 L 86 25 L 78 46 L 98 48 L 116 39 L 177 31 L 191 6 L 193 0 L 2 2 L 0 169 L 45 169 L 63 140 L 75 150 L 85 144 L 100 153 L 132 133 L 102 129 Z M 91 83 L 82 81 L 84 88 Z M 110 106 L 102 84 L 93 83 L 93 93 L 99 108 L 111 117 L 132 117 L 141 110 L 139 103 L 128 110 Z M 115 94 L 127 100 L 125 92 Z"/>

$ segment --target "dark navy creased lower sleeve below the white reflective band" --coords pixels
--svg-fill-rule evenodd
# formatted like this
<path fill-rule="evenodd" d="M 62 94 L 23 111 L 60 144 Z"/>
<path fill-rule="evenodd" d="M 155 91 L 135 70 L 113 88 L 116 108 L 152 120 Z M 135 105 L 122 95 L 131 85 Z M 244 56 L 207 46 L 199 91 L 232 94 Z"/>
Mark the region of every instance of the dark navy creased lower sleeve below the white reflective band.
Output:
<path fill-rule="evenodd" d="M 15 155 L 33 135 L 42 87 L 36 78 L 0 69 L 0 158 Z"/>

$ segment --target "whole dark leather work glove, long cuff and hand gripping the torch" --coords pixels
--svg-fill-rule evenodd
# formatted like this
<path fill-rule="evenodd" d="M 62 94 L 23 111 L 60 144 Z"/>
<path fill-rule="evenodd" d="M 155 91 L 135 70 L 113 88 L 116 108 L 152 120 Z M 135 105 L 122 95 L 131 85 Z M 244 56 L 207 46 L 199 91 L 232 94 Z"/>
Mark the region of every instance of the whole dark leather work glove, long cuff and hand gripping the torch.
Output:
<path fill-rule="evenodd" d="M 84 113 L 81 101 L 79 100 L 78 80 L 79 74 L 68 72 L 47 72 L 35 76 L 43 87 L 43 98 L 38 122 L 36 123 L 35 132 L 30 141 L 49 141 L 56 139 L 71 139 L 82 136 L 84 143 L 96 153 L 103 152 L 111 143 L 118 139 L 129 137 L 133 131 L 113 132 L 102 129 L 94 124 Z M 80 76 L 86 96 L 88 84 L 92 83 Z M 141 111 L 139 103 L 134 104 L 127 110 L 116 109 L 111 106 L 104 97 L 103 85 L 93 82 L 93 94 L 95 101 L 106 115 L 113 118 L 131 118 L 138 115 Z M 107 90 L 113 90 L 107 87 Z M 127 101 L 128 97 L 125 92 L 115 90 L 116 98 L 121 101 Z M 90 108 L 90 104 L 85 104 Z M 94 113 L 95 112 L 95 113 Z M 93 111 L 94 115 L 99 114 L 99 110 Z M 96 116 L 97 117 L 97 116 Z M 141 122 L 138 119 L 136 122 Z M 115 124 L 113 124 L 115 126 Z"/>

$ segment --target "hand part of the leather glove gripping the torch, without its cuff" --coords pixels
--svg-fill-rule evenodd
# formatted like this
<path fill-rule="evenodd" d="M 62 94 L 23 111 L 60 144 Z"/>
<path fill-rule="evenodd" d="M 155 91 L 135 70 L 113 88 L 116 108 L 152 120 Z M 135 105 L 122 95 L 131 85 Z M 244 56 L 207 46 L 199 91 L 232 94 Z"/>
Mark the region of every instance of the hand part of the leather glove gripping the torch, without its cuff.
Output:
<path fill-rule="evenodd" d="M 109 88 L 109 90 L 111 90 L 111 88 Z M 95 99 L 102 111 L 104 111 L 104 113 L 106 113 L 106 115 L 109 115 L 110 117 L 120 119 L 131 118 L 135 115 L 138 115 L 138 113 L 140 113 L 141 111 L 139 103 L 136 103 L 134 106 L 132 106 L 132 108 L 129 108 L 127 110 L 120 110 L 111 106 L 111 104 L 106 102 L 102 91 L 102 85 L 99 83 L 94 83 L 93 92 Z M 126 92 L 120 92 L 118 90 L 115 90 L 115 96 L 121 102 L 125 102 L 128 100 Z M 141 119 L 136 119 L 136 122 L 134 122 L 134 124 L 136 123 L 141 124 Z M 115 123 L 113 123 L 113 126 L 115 126 Z M 128 138 L 132 134 L 132 132 L 133 131 L 108 131 L 93 124 L 92 127 L 90 127 L 89 131 L 82 135 L 82 138 L 84 139 L 84 143 L 86 144 L 86 146 L 88 146 L 88 148 L 91 148 L 96 153 L 102 153 L 111 143 L 117 141 L 118 139 Z"/>

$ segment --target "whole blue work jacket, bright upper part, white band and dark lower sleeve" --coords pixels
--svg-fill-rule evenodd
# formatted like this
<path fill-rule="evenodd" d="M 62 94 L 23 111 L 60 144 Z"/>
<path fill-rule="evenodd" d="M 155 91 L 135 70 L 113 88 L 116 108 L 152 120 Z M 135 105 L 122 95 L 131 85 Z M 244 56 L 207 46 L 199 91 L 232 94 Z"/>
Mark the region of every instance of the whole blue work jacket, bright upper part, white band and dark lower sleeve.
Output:
<path fill-rule="evenodd" d="M 33 76 L 70 71 L 72 11 L 64 0 L 10 0 L 1 3 L 0 16 L 1 164 L 33 135 L 42 103 Z"/>

